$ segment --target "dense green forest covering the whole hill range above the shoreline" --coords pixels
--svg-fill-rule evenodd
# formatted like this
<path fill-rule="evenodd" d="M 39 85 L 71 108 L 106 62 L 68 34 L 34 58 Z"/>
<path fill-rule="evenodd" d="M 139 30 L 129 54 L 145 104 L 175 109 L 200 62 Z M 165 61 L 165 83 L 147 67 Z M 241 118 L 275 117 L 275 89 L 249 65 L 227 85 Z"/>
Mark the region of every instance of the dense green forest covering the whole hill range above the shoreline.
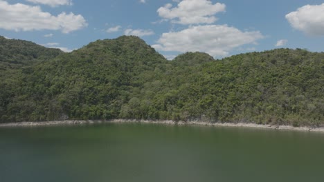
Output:
<path fill-rule="evenodd" d="M 134 36 L 63 53 L 0 37 L 0 122 L 149 119 L 324 125 L 324 53 L 166 60 Z"/>

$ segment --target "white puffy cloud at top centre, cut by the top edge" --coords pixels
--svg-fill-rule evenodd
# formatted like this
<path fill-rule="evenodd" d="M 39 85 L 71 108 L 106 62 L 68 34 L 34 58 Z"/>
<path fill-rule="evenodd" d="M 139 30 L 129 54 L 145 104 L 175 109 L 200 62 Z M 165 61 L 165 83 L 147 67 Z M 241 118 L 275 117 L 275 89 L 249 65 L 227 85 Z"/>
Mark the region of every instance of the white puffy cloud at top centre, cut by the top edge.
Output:
<path fill-rule="evenodd" d="M 183 25 L 214 23 L 217 18 L 214 16 L 217 12 L 225 11 L 224 3 L 215 3 L 208 0 L 183 0 L 176 8 L 168 3 L 157 10 L 159 16 L 163 19 L 171 19 L 172 23 Z"/>

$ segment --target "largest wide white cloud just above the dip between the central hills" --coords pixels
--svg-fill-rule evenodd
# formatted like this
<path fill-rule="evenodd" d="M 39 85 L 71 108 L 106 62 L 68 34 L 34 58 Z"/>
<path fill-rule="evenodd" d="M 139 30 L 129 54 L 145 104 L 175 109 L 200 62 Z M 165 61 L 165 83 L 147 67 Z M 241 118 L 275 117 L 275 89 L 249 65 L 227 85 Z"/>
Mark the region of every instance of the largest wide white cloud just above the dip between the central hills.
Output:
<path fill-rule="evenodd" d="M 179 32 L 163 33 L 156 50 L 177 52 L 207 52 L 213 57 L 225 57 L 234 48 L 254 43 L 264 36 L 258 32 L 242 32 L 227 25 L 192 26 Z"/>

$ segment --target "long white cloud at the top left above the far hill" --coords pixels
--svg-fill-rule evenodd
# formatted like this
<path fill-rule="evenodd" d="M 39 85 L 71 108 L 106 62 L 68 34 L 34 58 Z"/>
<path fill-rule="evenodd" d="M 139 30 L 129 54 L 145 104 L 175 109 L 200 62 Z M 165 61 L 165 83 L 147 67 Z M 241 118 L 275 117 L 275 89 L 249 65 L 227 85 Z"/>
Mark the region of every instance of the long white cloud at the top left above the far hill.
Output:
<path fill-rule="evenodd" d="M 73 32 L 87 27 L 82 15 L 73 12 L 62 12 L 56 17 L 43 12 L 39 6 L 28 6 L 21 3 L 8 4 L 0 0 L 0 28 L 5 30 L 60 30 L 63 33 Z"/>

